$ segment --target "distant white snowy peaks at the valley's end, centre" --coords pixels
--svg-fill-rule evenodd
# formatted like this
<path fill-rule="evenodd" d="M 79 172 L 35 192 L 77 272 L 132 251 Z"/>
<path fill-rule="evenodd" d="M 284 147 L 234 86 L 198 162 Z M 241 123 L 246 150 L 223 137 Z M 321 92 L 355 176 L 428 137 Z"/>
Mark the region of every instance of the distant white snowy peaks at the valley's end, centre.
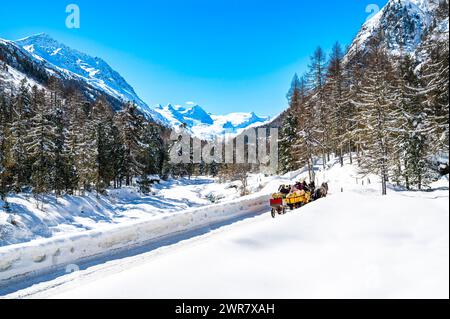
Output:
<path fill-rule="evenodd" d="M 239 134 L 247 128 L 260 126 L 270 120 L 269 117 L 260 117 L 253 112 L 214 115 L 207 113 L 199 105 L 187 107 L 171 104 L 158 105 L 154 110 L 168 119 L 171 127 L 185 124 L 194 136 L 201 139 L 211 139 L 224 133 Z"/>

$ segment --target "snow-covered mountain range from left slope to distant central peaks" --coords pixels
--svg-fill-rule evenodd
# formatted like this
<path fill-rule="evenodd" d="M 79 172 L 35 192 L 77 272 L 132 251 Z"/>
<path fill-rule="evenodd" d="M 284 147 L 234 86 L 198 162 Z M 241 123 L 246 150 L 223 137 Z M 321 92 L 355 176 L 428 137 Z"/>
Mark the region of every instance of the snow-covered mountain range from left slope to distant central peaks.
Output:
<path fill-rule="evenodd" d="M 3 57 L 3 58 L 2 58 Z M 139 109 L 153 120 L 167 127 L 185 124 L 197 137 L 211 139 L 218 134 L 239 133 L 252 125 L 263 124 L 268 117 L 254 113 L 232 113 L 225 116 L 212 115 L 198 105 L 156 106 L 147 105 L 133 87 L 108 63 L 98 57 L 72 49 L 45 33 L 17 41 L 0 39 L 0 60 L 8 64 L 8 72 L 0 70 L 4 82 L 18 86 L 21 79 L 34 84 L 37 78 L 50 76 L 62 80 L 74 80 L 85 94 L 95 99 L 99 93 L 111 97 L 116 109 L 120 102 L 135 102 Z"/>

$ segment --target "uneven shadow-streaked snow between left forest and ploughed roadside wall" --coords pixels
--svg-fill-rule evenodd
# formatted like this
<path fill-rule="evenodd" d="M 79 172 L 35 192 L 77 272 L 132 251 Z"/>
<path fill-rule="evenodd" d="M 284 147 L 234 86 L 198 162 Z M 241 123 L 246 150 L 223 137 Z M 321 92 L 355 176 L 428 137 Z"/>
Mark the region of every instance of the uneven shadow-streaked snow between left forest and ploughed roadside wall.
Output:
<path fill-rule="evenodd" d="M 148 195 L 135 187 L 125 187 L 110 189 L 106 196 L 45 196 L 39 209 L 31 194 L 11 194 L 10 213 L 2 209 L 4 203 L 0 200 L 0 247 L 178 214 L 211 205 L 212 192 L 218 199 L 214 203 L 241 197 L 238 189 L 229 188 L 229 183 L 217 184 L 212 178 L 162 181 Z"/>

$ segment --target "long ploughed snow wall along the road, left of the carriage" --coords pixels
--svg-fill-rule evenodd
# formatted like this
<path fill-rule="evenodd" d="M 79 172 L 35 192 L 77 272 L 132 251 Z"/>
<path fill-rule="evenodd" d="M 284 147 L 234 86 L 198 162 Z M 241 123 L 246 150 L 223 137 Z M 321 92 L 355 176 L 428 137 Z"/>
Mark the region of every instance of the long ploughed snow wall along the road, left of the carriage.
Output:
<path fill-rule="evenodd" d="M 0 248 L 0 286 L 27 275 L 49 272 L 79 261 L 142 245 L 160 237 L 194 230 L 267 207 L 268 195 L 189 209 L 161 219 L 109 226 L 63 237 L 35 240 Z"/>

